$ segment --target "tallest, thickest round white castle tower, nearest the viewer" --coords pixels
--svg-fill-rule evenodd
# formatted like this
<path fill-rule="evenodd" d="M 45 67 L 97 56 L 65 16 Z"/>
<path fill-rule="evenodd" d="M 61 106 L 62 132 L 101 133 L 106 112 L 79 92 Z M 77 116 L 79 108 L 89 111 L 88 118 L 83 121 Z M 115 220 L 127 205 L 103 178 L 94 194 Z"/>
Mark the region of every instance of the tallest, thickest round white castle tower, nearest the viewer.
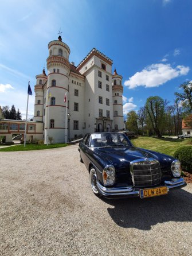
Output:
<path fill-rule="evenodd" d="M 47 59 L 48 83 L 46 87 L 45 110 L 45 143 L 48 137 L 53 137 L 54 142 L 65 142 L 65 92 L 69 91 L 69 46 L 58 40 L 48 44 L 49 57 Z M 49 91 L 49 95 L 48 95 Z"/>

